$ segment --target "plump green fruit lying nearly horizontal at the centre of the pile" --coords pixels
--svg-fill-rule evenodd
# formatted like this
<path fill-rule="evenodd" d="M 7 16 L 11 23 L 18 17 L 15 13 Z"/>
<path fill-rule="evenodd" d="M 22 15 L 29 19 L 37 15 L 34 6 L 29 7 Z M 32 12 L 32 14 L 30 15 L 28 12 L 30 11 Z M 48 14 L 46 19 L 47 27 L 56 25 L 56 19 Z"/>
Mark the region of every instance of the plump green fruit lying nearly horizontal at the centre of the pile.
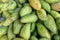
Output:
<path fill-rule="evenodd" d="M 35 14 L 29 14 L 20 19 L 21 23 L 33 23 L 37 21 L 37 16 Z"/>

